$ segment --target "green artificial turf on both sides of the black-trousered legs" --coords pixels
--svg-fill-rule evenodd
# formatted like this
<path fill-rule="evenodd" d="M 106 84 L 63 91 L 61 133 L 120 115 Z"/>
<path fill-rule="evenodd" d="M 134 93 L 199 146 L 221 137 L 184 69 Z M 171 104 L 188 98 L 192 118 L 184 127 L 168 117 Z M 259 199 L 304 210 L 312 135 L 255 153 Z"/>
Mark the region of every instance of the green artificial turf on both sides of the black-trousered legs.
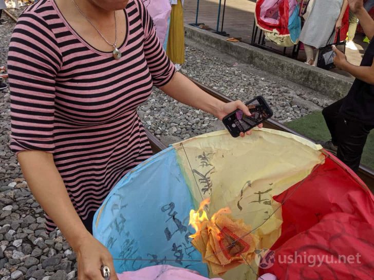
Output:
<path fill-rule="evenodd" d="M 315 141 L 327 141 L 331 138 L 321 112 L 311 113 L 302 118 L 285 123 L 284 125 Z M 361 158 L 361 164 L 370 169 L 374 169 L 374 131 L 371 131 L 367 137 L 364 153 Z"/>

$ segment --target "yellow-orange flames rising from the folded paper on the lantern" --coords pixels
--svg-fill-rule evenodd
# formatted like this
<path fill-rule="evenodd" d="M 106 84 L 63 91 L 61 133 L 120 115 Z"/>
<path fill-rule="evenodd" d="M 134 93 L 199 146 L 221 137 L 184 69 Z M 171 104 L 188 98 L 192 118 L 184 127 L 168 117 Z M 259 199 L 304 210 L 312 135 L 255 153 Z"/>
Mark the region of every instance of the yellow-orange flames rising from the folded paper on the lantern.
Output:
<path fill-rule="evenodd" d="M 190 235 L 191 238 L 195 238 L 196 236 L 198 236 L 200 234 L 200 231 L 201 231 L 201 227 L 202 227 L 202 223 L 204 221 L 209 221 L 209 218 L 208 218 L 208 215 L 207 215 L 207 212 L 205 212 L 205 210 L 203 209 L 205 206 L 209 205 L 210 204 L 210 198 L 207 198 L 207 199 L 204 199 L 201 203 L 200 203 L 200 206 L 199 206 L 199 209 L 197 211 L 195 210 L 191 210 L 190 211 L 190 223 L 189 225 L 191 225 L 194 229 L 195 229 L 195 234 L 192 234 Z M 215 221 L 216 221 L 216 218 L 220 215 L 220 214 L 230 214 L 231 213 L 231 210 L 229 207 L 226 207 L 226 208 L 222 208 L 220 210 L 218 210 L 211 218 L 211 225 L 215 225 Z M 213 229 L 212 227 L 209 227 L 211 230 Z M 219 234 L 219 229 L 214 227 L 214 229 L 216 229 L 216 234 Z"/>

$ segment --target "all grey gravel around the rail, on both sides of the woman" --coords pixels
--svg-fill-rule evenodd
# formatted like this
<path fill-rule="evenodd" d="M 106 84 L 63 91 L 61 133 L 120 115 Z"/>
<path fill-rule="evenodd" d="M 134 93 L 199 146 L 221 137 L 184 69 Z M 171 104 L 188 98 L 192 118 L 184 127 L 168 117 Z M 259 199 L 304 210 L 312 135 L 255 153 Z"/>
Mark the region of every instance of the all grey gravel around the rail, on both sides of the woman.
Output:
<path fill-rule="evenodd" d="M 6 65 L 13 28 L 9 18 L 0 27 L 1 65 Z M 234 99 L 246 101 L 261 94 L 281 122 L 321 110 L 331 102 L 191 41 L 187 41 L 186 64 L 181 72 Z M 45 233 L 44 212 L 9 149 L 9 89 L 0 91 L 0 115 L 0 280 L 76 279 L 76 255 L 59 230 Z M 223 128 L 214 116 L 182 105 L 159 90 L 139 107 L 139 115 L 144 126 L 165 144 Z"/>

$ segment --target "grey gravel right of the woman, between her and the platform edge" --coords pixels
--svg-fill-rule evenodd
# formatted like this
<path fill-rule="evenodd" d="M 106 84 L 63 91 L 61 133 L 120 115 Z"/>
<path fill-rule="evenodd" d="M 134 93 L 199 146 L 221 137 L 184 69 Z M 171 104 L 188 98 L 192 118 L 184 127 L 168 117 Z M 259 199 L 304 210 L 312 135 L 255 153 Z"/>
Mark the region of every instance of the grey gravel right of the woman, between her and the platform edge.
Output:
<path fill-rule="evenodd" d="M 322 110 L 333 102 L 311 89 L 242 64 L 234 57 L 189 39 L 181 73 L 243 102 L 263 95 L 274 111 L 273 118 L 281 123 Z M 139 107 L 139 115 L 144 126 L 165 144 L 224 129 L 214 116 L 183 105 L 158 89 Z"/>

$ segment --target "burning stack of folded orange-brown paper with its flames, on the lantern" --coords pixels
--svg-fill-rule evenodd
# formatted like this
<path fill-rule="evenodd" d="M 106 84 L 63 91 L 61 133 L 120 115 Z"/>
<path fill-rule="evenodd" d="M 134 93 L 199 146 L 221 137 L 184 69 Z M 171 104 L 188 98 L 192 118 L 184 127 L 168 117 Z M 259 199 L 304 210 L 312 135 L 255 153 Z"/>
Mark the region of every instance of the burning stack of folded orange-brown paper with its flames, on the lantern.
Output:
<path fill-rule="evenodd" d="M 250 264 L 258 243 L 251 227 L 240 220 L 230 217 L 229 208 L 223 208 L 211 219 L 203 210 L 210 199 L 201 202 L 197 211 L 190 212 L 190 225 L 196 230 L 191 235 L 192 244 L 201 253 L 212 273 L 222 275 L 241 264 Z"/>

